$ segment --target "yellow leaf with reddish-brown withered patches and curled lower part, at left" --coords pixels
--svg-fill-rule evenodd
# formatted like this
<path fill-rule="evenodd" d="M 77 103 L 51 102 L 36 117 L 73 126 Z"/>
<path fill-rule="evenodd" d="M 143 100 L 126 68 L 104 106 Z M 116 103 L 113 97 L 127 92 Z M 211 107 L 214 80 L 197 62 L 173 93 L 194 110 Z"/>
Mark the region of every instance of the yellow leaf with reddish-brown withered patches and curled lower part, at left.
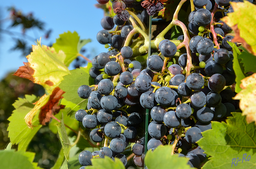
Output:
<path fill-rule="evenodd" d="M 37 45 L 32 45 L 33 52 L 27 56 L 28 62 L 24 63 L 14 75 L 27 78 L 33 83 L 42 85 L 47 94 L 43 95 L 39 101 L 35 103 L 35 107 L 25 116 L 28 126 L 32 126 L 32 119 L 38 111 L 40 111 L 40 122 L 45 124 L 49 122 L 47 113 L 57 113 L 60 108 L 58 101 L 64 93 L 58 88 L 63 80 L 63 76 L 70 74 L 67 66 L 64 64 L 66 55 L 59 50 L 58 53 L 53 47 L 41 45 L 37 41 Z"/>

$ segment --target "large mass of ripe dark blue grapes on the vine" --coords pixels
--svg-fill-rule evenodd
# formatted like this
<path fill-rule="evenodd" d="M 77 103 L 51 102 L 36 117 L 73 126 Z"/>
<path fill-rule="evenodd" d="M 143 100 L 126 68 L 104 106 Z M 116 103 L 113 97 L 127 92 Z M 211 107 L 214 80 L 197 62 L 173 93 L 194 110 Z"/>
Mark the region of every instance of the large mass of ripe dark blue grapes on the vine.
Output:
<path fill-rule="evenodd" d="M 100 1 L 105 2 L 108 1 Z M 134 46 L 125 43 L 134 28 L 128 21 L 129 12 L 123 11 L 127 5 L 135 8 L 138 3 L 133 0 L 113 2 L 117 15 L 103 17 L 104 30 L 97 34 L 100 44 L 111 47 L 92 59 L 89 74 L 95 85 L 80 86 L 77 93 L 88 99 L 88 104 L 86 110 L 75 114 L 76 119 L 91 130 L 90 139 L 103 142 L 104 146 L 92 153 L 82 151 L 81 165 L 90 165 L 93 156 L 109 156 L 113 160 L 117 157 L 126 165 L 125 154 L 130 143 L 135 143 L 133 161 L 139 167 L 144 166 L 145 143 L 150 151 L 160 145 L 175 144 L 174 153 L 189 158 L 192 167 L 198 168 L 205 160 L 204 150 L 197 145 L 201 132 L 211 129 L 212 120 L 223 121 L 239 109 L 238 101 L 232 100 L 236 76 L 232 48 L 227 43 L 234 37 L 229 33 L 231 28 L 220 21 L 233 9 L 229 0 L 215 2 L 214 5 L 210 0 L 193 1 L 196 10 L 189 14 L 189 51 L 177 57 L 176 44 L 164 39 L 158 44 L 159 54 L 148 56 L 145 62 L 137 61 Z M 163 4 L 146 0 L 141 5 L 146 10 L 136 17 L 145 23 L 147 14 L 154 15 Z M 115 25 L 115 31 L 109 32 Z M 132 41 L 142 39 L 140 34 L 130 38 Z M 178 40 L 184 40 L 184 35 Z M 176 57 L 176 64 L 167 67 L 165 60 L 174 61 Z M 191 65 L 187 65 L 188 57 L 192 59 Z M 186 72 L 188 66 L 189 73 Z M 143 137 L 146 109 L 150 112 L 149 140 Z"/>

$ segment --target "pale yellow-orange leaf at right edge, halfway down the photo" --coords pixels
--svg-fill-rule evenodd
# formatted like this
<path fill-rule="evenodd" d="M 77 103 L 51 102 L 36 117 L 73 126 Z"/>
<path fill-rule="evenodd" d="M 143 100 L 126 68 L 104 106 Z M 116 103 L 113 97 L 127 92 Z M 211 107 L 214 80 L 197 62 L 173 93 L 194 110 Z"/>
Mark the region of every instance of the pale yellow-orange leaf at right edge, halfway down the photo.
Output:
<path fill-rule="evenodd" d="M 256 124 L 256 103 L 254 102 L 256 100 L 256 73 L 245 77 L 241 82 L 242 90 L 236 94 L 234 99 L 240 100 L 239 107 L 242 110 L 242 115 L 246 115 L 246 121 Z"/>

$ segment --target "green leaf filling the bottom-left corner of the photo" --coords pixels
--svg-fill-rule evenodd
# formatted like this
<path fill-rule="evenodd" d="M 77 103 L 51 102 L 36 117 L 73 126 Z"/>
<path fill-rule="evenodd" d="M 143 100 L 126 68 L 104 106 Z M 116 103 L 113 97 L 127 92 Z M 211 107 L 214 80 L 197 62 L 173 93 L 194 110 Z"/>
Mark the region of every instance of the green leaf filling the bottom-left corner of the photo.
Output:
<path fill-rule="evenodd" d="M 33 162 L 34 152 L 0 150 L 1 168 L 3 169 L 42 169 Z"/>

